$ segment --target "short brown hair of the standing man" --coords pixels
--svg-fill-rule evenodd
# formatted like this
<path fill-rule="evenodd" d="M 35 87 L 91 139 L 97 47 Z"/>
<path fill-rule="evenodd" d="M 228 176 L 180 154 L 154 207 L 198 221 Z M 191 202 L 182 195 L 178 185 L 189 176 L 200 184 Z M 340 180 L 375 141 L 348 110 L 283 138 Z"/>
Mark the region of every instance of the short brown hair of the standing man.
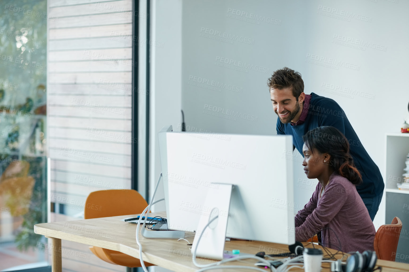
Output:
<path fill-rule="evenodd" d="M 300 94 L 304 91 L 304 81 L 301 78 L 301 74 L 288 67 L 274 71 L 271 78 L 267 80 L 267 86 L 269 90 L 271 88 L 281 90 L 291 87 L 292 95 L 295 96 L 297 101 Z"/>

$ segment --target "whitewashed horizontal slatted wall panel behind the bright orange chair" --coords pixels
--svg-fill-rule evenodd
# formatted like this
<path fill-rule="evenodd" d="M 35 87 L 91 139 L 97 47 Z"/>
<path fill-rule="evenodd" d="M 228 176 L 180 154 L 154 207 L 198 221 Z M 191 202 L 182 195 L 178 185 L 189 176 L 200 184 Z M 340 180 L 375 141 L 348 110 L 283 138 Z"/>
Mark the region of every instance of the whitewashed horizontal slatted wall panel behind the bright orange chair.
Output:
<path fill-rule="evenodd" d="M 97 190 L 130 188 L 132 1 L 49 0 L 52 220 L 78 219 Z M 60 208 L 59 204 L 63 204 Z M 61 209 L 64 209 L 62 211 Z M 63 242 L 64 271 L 125 271 Z"/>

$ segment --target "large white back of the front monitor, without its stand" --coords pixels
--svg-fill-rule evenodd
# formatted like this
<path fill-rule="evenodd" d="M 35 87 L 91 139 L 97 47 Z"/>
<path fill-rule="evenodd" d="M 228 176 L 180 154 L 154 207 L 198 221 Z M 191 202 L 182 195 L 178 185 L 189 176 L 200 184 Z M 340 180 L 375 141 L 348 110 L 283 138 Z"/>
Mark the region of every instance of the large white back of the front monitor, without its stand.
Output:
<path fill-rule="evenodd" d="M 292 136 L 164 133 L 170 229 L 196 230 L 209 187 L 228 183 L 227 237 L 295 243 Z"/>

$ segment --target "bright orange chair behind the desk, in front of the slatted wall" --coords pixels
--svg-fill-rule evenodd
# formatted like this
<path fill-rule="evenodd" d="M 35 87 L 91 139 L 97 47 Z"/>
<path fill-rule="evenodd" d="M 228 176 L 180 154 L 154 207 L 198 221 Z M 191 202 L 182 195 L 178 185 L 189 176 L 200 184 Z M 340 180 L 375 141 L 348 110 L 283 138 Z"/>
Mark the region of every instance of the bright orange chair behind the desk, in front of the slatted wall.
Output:
<path fill-rule="evenodd" d="M 90 205 L 88 205 L 90 204 Z M 140 214 L 148 206 L 145 199 L 135 190 L 102 190 L 89 194 L 85 201 L 84 218 L 99 218 L 127 214 Z M 99 210 L 96 207 L 103 207 Z M 92 209 L 93 208 L 93 209 Z M 119 251 L 102 247 L 90 247 L 99 259 L 127 267 L 141 267 L 139 259 Z M 153 264 L 144 262 L 146 266 Z"/>

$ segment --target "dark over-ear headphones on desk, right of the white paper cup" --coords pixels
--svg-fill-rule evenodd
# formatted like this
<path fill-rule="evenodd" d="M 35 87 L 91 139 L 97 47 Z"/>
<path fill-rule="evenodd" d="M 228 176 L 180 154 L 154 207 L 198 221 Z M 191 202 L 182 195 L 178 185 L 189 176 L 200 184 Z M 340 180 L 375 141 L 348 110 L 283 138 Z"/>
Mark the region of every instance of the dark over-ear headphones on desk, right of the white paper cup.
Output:
<path fill-rule="evenodd" d="M 346 264 L 342 264 L 342 258 L 331 263 L 331 271 L 333 272 L 372 272 L 375 268 L 378 256 L 375 251 L 365 250 L 362 254 L 359 252 L 351 254 L 346 260 Z"/>

